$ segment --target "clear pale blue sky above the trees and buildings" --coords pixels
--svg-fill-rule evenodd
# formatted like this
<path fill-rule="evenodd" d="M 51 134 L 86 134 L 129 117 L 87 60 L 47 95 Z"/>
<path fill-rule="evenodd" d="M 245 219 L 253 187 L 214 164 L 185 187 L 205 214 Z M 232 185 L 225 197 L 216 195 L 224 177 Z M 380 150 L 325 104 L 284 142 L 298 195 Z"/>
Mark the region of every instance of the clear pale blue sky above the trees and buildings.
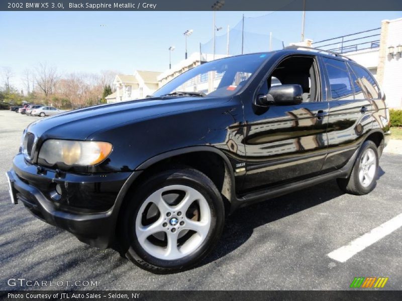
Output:
<path fill-rule="evenodd" d="M 217 12 L 216 25 L 223 28 L 217 35 L 228 25 L 241 28 L 243 14 L 246 31 L 272 32 L 285 46 L 300 41 L 302 12 Z M 329 39 L 401 17 L 402 12 L 306 12 L 305 37 Z M 13 70 L 12 84 L 19 89 L 23 70 L 39 62 L 55 65 L 61 74 L 163 72 L 169 46 L 175 46 L 172 64 L 184 59 L 184 31 L 193 30 L 187 38 L 191 54 L 212 39 L 212 28 L 212 12 L 0 12 L 0 67 Z"/>

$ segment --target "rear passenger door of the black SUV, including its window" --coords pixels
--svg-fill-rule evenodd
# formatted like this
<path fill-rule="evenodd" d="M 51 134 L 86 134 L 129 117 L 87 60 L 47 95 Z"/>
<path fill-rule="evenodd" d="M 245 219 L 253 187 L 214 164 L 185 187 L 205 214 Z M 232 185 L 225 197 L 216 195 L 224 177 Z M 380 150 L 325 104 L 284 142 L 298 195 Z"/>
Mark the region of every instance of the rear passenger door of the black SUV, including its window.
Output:
<path fill-rule="evenodd" d="M 344 166 L 371 129 L 371 102 L 344 60 L 322 57 L 326 70 L 328 156 L 323 171 Z"/>

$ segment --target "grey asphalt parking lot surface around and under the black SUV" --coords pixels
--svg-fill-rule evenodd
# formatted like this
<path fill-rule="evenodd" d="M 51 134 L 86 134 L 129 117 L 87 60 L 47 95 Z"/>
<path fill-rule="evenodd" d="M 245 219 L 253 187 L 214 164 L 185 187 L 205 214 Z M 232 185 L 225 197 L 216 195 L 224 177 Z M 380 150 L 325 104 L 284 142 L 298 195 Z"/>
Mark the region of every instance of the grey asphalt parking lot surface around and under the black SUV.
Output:
<path fill-rule="evenodd" d="M 12 205 L 5 172 L 23 129 L 40 117 L 0 111 L 0 289 L 349 289 L 354 277 L 388 277 L 402 289 L 402 228 L 345 262 L 328 254 L 402 213 L 402 155 L 384 154 L 375 190 L 343 194 L 330 181 L 235 212 L 198 267 L 155 275 L 98 250 Z M 97 286 L 9 286 L 8 279 L 93 280 Z"/>

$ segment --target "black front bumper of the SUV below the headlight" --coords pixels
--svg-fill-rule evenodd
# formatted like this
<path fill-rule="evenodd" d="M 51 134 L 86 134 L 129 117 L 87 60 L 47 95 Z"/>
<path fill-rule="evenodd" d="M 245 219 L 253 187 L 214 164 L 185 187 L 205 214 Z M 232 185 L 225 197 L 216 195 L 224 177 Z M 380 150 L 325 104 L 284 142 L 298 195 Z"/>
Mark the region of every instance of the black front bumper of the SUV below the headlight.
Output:
<path fill-rule="evenodd" d="M 8 173 L 12 194 L 37 218 L 99 248 L 114 240 L 116 200 L 131 172 L 77 175 L 44 170 L 26 163 L 22 154 Z M 56 186 L 62 194 L 56 193 Z M 81 202 L 81 203 L 80 203 Z"/>

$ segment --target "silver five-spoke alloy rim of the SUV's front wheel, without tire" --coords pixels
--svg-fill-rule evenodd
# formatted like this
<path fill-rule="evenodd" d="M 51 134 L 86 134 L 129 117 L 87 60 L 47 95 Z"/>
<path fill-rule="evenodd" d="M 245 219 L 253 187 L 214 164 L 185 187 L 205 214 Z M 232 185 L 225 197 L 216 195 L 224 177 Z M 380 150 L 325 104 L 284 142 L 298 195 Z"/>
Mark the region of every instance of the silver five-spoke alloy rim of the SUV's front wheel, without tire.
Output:
<path fill-rule="evenodd" d="M 211 228 L 206 198 L 185 185 L 171 185 L 152 193 L 141 205 L 135 223 L 141 247 L 150 255 L 177 260 L 194 252 Z"/>

